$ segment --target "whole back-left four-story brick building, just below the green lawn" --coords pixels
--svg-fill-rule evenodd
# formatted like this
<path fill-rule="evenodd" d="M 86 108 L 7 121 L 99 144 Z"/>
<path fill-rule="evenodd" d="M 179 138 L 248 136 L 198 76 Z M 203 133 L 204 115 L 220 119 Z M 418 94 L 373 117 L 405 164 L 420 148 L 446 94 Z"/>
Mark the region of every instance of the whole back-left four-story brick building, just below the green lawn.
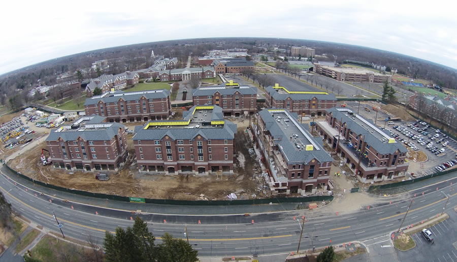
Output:
<path fill-rule="evenodd" d="M 108 122 L 129 123 L 167 120 L 171 111 L 170 91 L 110 91 L 86 99 L 86 115 L 107 117 Z"/>

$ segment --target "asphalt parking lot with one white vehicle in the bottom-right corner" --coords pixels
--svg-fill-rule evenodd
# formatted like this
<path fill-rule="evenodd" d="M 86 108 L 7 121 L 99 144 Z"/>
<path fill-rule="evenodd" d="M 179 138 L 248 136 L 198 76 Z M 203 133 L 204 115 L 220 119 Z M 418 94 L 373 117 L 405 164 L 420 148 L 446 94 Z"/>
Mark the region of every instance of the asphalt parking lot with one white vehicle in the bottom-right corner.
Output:
<path fill-rule="evenodd" d="M 457 214 L 452 210 L 448 214 L 448 219 L 428 228 L 434 237 L 433 244 L 417 232 L 411 235 L 416 247 L 396 250 L 399 261 L 457 262 Z"/>

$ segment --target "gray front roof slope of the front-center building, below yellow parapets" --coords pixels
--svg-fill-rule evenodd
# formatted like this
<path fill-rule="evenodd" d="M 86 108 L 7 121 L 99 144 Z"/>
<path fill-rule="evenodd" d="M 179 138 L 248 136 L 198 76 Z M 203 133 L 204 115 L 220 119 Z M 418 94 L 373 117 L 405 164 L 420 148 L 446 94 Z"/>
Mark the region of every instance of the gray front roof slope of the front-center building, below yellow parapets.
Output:
<path fill-rule="evenodd" d="M 146 124 L 147 125 L 147 124 Z M 144 126 L 135 127 L 133 140 L 160 140 L 168 135 L 174 140 L 194 139 L 201 135 L 205 139 L 234 139 L 237 125 L 225 121 L 222 128 L 169 128 L 169 129 L 143 129 Z"/>

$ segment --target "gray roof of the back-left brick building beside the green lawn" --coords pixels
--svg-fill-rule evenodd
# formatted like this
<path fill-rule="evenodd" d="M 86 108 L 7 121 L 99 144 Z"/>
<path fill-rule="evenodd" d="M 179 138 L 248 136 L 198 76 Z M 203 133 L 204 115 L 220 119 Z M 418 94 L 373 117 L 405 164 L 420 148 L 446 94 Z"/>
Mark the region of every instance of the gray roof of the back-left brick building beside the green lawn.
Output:
<path fill-rule="evenodd" d="M 110 92 L 107 92 L 103 94 L 103 97 L 100 96 L 95 96 L 95 97 L 90 97 L 86 98 L 86 102 L 84 102 L 84 105 L 95 105 L 99 103 L 99 101 L 102 101 L 103 103 L 114 103 L 119 101 L 119 99 L 123 99 L 124 101 L 133 101 L 133 100 L 139 100 L 141 97 L 145 97 L 146 99 L 157 99 L 157 98 L 167 98 L 170 96 L 170 91 L 166 89 L 162 90 L 150 90 L 150 91 L 140 91 L 140 92 L 122 92 L 122 91 L 116 91 L 114 94 L 123 94 L 122 96 L 111 96 L 109 94 Z"/>

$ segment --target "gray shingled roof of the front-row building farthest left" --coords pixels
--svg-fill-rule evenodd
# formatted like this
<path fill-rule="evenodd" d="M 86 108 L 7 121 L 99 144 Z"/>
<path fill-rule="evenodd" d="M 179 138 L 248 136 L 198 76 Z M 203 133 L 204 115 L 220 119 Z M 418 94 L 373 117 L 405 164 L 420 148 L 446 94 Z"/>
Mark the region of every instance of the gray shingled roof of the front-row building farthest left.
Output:
<path fill-rule="evenodd" d="M 95 123 L 91 123 L 91 124 L 95 124 Z M 55 130 L 57 130 L 57 129 L 53 129 L 49 133 L 48 138 L 46 138 L 46 141 L 57 141 L 59 139 L 59 137 L 62 138 L 63 141 L 75 141 L 78 139 L 78 137 L 81 137 L 82 139 L 84 139 L 86 141 L 99 141 L 99 140 L 106 141 L 106 140 L 110 140 L 115 135 L 117 135 L 119 128 L 125 128 L 124 125 L 121 125 L 119 123 L 100 123 L 100 124 L 112 124 L 112 125 L 109 128 L 100 128 L 98 130 L 88 129 L 88 130 L 84 130 L 84 131 L 76 131 L 76 129 L 71 129 L 71 130 L 62 131 L 62 132 L 55 132 Z"/>

